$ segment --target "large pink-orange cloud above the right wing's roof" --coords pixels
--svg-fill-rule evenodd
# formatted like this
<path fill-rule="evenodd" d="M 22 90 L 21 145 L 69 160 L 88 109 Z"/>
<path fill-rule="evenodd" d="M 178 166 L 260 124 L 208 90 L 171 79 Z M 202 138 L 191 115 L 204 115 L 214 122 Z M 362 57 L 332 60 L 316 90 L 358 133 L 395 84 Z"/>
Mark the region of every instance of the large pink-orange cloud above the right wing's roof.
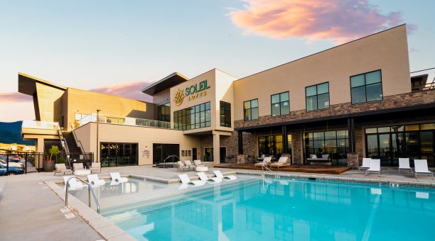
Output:
<path fill-rule="evenodd" d="M 271 39 L 301 38 L 345 43 L 402 22 L 399 12 L 381 13 L 367 0 L 242 0 L 229 16 L 245 33 Z M 416 26 L 408 26 L 415 30 Z"/>

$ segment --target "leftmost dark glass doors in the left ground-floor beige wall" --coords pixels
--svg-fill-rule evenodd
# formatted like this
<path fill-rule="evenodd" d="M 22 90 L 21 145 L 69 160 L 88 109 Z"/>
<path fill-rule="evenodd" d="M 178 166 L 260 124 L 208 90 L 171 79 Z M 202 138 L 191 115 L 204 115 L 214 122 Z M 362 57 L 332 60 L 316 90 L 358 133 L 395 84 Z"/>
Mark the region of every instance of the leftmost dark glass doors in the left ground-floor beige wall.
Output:
<path fill-rule="evenodd" d="M 137 165 L 137 144 L 102 142 L 100 162 L 102 167 Z"/>

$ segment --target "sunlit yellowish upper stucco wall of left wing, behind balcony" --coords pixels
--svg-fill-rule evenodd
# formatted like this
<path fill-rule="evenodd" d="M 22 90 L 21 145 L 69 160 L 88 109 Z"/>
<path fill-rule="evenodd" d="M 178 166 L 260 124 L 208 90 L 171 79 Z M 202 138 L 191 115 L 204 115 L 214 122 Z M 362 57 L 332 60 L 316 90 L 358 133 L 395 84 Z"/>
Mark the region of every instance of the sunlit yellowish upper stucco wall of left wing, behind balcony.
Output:
<path fill-rule="evenodd" d="M 68 116 L 65 118 L 68 128 L 74 123 L 75 113 L 97 113 L 97 109 L 102 115 L 154 119 L 153 103 L 73 88 L 65 91 L 63 99 L 68 102 L 68 111 L 63 111 Z"/>

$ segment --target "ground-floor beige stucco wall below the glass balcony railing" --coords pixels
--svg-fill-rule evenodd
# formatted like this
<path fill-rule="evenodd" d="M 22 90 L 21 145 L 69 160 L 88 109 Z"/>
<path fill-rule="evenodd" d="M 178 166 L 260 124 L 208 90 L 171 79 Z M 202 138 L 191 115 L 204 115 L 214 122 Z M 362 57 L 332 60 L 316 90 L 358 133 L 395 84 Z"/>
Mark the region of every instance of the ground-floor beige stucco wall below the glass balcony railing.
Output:
<path fill-rule="evenodd" d="M 153 164 L 153 143 L 179 144 L 181 150 L 192 150 L 196 147 L 200 151 L 200 137 L 183 135 L 180 130 L 168 130 L 160 128 L 146 128 L 142 126 L 99 124 L 99 142 L 127 142 L 138 143 L 139 165 Z M 85 152 L 97 150 L 97 123 L 87 123 L 75 130 L 77 139 L 82 142 Z M 143 151 L 149 151 L 149 157 L 142 155 Z M 100 155 L 99 155 L 100 156 Z M 200 157 L 200 155 L 198 155 Z M 96 158 L 96 155 L 95 155 Z M 192 157 L 181 157 L 182 160 Z"/>

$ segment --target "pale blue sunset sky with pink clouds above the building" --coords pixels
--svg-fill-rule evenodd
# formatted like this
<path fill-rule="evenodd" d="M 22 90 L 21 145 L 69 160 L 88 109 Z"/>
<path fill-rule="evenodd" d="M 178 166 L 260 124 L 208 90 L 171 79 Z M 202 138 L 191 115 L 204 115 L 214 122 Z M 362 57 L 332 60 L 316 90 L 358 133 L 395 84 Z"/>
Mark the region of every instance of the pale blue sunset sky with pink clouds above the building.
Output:
<path fill-rule="evenodd" d="M 245 77 L 402 23 L 411 72 L 435 67 L 434 9 L 431 0 L 0 0 L 0 121 L 35 118 L 18 72 L 151 101 L 140 90 L 173 72 Z"/>

